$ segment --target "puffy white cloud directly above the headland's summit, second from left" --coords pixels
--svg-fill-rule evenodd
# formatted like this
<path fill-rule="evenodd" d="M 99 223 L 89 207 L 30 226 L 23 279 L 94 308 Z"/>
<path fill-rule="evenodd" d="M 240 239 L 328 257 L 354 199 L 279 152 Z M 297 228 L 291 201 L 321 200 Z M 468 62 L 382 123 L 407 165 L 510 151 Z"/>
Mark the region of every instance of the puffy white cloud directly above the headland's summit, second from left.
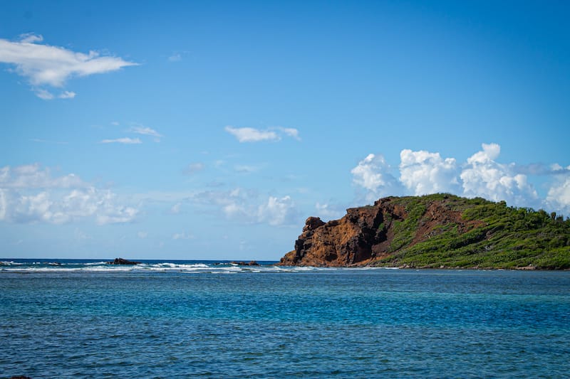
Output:
<path fill-rule="evenodd" d="M 457 164 L 455 159 L 442 159 L 439 153 L 428 151 L 400 152 L 400 181 L 414 195 L 457 192 Z"/>

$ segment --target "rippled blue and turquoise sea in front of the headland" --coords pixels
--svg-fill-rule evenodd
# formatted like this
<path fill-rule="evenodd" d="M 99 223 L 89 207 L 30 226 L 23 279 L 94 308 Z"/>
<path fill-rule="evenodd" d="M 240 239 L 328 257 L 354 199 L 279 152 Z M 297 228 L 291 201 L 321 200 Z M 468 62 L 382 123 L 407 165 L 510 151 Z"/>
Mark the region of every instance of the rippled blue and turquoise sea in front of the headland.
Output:
<path fill-rule="evenodd" d="M 570 373 L 570 272 L 6 261 L 0 377 Z"/>

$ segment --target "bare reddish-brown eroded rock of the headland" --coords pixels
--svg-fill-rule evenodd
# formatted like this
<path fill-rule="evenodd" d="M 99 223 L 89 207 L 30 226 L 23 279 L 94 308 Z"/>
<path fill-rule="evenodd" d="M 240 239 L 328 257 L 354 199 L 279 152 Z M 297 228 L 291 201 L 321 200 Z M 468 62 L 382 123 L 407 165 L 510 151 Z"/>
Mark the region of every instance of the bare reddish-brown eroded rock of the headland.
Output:
<path fill-rule="evenodd" d="M 316 217 L 307 218 L 295 250 L 281 258 L 279 264 L 354 266 L 389 255 L 394 225 L 408 217 L 405 207 L 394 203 L 394 199 L 381 198 L 374 205 L 349 208 L 343 218 L 328 223 Z M 461 224 L 461 213 L 447 209 L 444 203 L 432 203 L 420 220 L 412 243 L 425 240 L 436 225 L 448 222 Z"/>

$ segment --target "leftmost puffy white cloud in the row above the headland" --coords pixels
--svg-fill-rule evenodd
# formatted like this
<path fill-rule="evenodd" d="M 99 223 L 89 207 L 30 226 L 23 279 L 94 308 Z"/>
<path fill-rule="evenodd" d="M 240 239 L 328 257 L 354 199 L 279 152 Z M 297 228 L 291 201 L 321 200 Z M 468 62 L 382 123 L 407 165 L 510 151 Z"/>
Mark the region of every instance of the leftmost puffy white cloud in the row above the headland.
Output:
<path fill-rule="evenodd" d="M 390 174 L 390 166 L 382 155 L 368 154 L 351 170 L 353 183 L 368 191 L 367 201 L 400 193 L 400 184 Z"/>

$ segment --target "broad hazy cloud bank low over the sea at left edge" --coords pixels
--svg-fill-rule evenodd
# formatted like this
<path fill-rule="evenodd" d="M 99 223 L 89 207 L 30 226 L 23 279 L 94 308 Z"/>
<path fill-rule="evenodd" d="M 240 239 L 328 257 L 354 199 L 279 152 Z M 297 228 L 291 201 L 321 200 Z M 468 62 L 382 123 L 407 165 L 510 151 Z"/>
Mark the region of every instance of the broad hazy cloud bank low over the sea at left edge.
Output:
<path fill-rule="evenodd" d="M 62 224 L 92 218 L 103 225 L 129 222 L 137 213 L 115 193 L 73 174 L 53 177 L 38 164 L 0 169 L 0 221 Z"/>

